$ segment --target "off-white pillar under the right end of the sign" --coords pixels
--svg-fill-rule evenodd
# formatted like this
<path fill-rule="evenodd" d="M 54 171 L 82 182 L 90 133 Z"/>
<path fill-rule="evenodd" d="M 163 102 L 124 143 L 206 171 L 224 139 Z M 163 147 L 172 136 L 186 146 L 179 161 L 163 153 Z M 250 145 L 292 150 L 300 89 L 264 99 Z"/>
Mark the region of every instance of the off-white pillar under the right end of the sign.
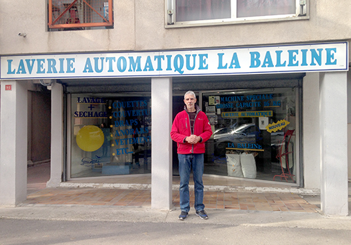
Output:
<path fill-rule="evenodd" d="M 348 215 L 348 115 L 335 110 L 346 112 L 347 100 L 347 73 L 320 73 L 321 211 L 326 215 Z"/>

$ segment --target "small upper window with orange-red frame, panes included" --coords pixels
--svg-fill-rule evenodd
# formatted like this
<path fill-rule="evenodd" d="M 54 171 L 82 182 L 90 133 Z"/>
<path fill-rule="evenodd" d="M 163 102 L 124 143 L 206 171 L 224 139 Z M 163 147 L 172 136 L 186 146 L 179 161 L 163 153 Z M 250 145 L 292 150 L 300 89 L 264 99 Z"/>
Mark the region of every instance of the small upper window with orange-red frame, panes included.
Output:
<path fill-rule="evenodd" d="M 50 31 L 113 28 L 112 0 L 49 0 Z"/>

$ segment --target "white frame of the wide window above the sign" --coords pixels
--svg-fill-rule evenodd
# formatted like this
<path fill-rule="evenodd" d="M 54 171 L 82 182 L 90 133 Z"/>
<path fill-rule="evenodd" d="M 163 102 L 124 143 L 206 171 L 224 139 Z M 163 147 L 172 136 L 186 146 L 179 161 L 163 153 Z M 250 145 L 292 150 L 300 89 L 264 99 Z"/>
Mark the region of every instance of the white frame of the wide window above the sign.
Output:
<path fill-rule="evenodd" d="M 295 14 L 279 14 L 268 16 L 251 16 L 244 18 L 237 18 L 237 0 L 231 0 L 231 18 L 230 19 L 209 19 L 201 21 L 176 21 L 176 0 L 165 1 L 165 27 L 195 27 L 207 25 L 233 25 L 242 23 L 261 23 L 270 21 L 296 21 L 303 19 L 310 19 L 309 17 L 309 1 L 295 0 L 296 12 Z"/>

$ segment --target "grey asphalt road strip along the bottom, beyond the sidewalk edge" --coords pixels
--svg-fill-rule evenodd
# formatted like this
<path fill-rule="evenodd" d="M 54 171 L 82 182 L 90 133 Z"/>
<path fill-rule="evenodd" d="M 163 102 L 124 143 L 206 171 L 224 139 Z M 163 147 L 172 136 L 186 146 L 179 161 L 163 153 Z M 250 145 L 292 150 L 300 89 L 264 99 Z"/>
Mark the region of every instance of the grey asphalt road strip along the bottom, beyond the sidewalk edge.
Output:
<path fill-rule="evenodd" d="M 187 222 L 0 220 L 0 244 L 350 244 L 346 230 Z"/>

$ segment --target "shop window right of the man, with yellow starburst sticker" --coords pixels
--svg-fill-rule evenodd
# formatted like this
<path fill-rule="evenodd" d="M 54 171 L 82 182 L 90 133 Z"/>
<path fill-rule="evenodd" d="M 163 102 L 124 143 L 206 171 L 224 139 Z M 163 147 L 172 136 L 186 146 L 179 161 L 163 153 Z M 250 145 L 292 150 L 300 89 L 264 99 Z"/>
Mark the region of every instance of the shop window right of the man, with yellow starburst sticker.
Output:
<path fill-rule="evenodd" d="M 202 93 L 213 135 L 205 174 L 296 183 L 297 89 Z"/>

